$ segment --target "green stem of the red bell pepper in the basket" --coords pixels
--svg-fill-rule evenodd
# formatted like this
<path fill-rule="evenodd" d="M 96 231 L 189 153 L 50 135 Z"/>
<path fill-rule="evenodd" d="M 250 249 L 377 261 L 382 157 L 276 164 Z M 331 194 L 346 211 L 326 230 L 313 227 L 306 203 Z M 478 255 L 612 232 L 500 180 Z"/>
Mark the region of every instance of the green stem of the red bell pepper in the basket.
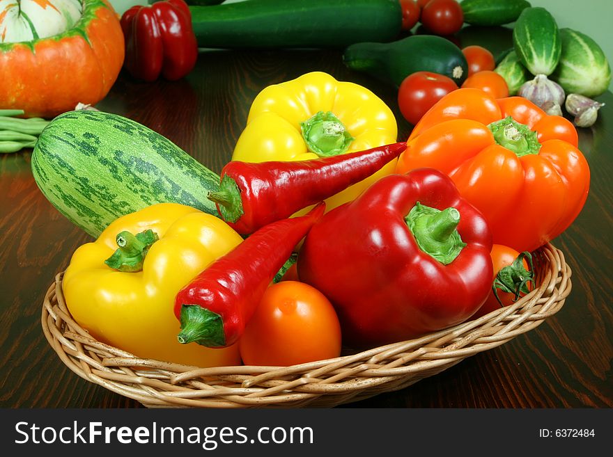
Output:
<path fill-rule="evenodd" d="M 466 246 L 457 230 L 460 212 L 456 208 L 441 211 L 417 202 L 405 221 L 417 246 L 444 265 L 451 264 Z"/>

